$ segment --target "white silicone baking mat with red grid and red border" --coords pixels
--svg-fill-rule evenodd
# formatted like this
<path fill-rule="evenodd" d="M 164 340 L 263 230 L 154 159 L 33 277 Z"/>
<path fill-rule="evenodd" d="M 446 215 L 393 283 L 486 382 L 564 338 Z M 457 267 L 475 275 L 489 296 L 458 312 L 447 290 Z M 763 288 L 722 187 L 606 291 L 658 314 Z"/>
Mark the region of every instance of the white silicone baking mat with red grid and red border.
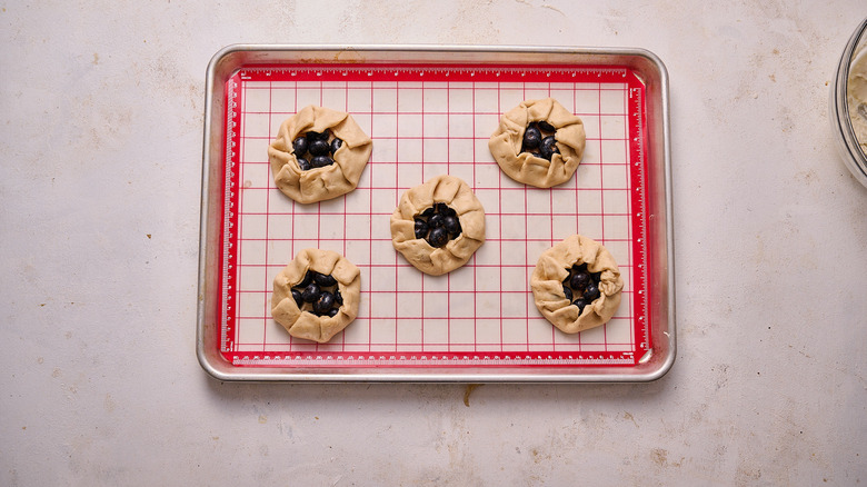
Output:
<path fill-rule="evenodd" d="M 220 352 L 235 366 L 624 366 L 650 349 L 644 188 L 645 87 L 627 67 L 247 66 L 227 81 Z M 551 97 L 579 116 L 587 148 L 556 188 L 505 176 L 488 150 L 500 115 Z M 373 140 L 358 188 L 300 205 L 273 185 L 268 145 L 297 110 L 349 112 Z M 432 277 L 391 246 L 407 189 L 449 173 L 485 207 L 486 242 Z M 536 309 L 539 255 L 572 233 L 604 244 L 624 278 L 605 326 L 567 335 Z M 305 248 L 361 270 L 358 318 L 328 344 L 291 337 L 270 314 L 275 276 Z"/>

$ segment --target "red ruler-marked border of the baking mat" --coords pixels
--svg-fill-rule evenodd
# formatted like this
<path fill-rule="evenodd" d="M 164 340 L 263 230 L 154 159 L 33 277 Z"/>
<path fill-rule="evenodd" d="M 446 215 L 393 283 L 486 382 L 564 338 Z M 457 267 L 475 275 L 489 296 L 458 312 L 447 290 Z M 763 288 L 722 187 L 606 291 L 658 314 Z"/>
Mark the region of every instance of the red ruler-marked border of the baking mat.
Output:
<path fill-rule="evenodd" d="M 498 83 L 627 83 L 629 195 L 631 202 L 631 288 L 634 349 L 630 351 L 237 351 L 233 319 L 237 317 L 235 287 L 238 285 L 239 172 L 243 83 L 261 81 L 298 82 L 498 82 Z M 276 367 L 497 367 L 497 366 L 634 366 L 651 348 L 648 312 L 648 256 L 646 251 L 648 183 L 645 87 L 626 67 L 527 66 L 527 64 L 281 64 L 247 66 L 227 81 L 225 115 L 225 179 L 221 222 L 222 259 L 220 276 L 223 305 L 220 351 L 236 366 Z M 580 167 L 579 169 L 580 170 Z M 371 188 L 372 190 L 372 188 Z M 362 280 L 363 281 L 363 280 Z M 362 284 L 363 286 L 363 284 Z M 529 284 L 528 284 L 528 292 Z M 362 290 L 363 294 L 363 290 Z M 535 310 L 534 310 L 535 311 Z M 351 326 L 351 325 L 350 325 Z M 558 331 L 559 332 L 559 331 Z"/>

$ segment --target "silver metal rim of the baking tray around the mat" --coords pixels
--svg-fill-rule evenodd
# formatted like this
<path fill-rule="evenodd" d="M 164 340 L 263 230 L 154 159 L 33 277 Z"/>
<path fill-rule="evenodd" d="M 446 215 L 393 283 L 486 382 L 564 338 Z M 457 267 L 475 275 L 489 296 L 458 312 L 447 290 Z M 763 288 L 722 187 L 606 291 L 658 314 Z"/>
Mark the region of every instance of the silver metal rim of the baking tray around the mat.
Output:
<path fill-rule="evenodd" d="M 656 175 L 647 188 L 648 276 L 652 348 L 632 367 L 237 367 L 219 350 L 220 177 L 223 170 L 226 81 L 246 64 L 405 62 L 420 64 L 479 62 L 509 64 L 626 66 L 646 86 L 647 163 Z M 644 49 L 512 46 L 302 46 L 233 44 L 208 64 L 202 148 L 201 227 L 196 350 L 201 367 L 225 381 L 412 381 L 412 382 L 641 382 L 665 376 L 676 356 L 674 232 L 669 142 L 668 73 L 659 58 Z"/>

